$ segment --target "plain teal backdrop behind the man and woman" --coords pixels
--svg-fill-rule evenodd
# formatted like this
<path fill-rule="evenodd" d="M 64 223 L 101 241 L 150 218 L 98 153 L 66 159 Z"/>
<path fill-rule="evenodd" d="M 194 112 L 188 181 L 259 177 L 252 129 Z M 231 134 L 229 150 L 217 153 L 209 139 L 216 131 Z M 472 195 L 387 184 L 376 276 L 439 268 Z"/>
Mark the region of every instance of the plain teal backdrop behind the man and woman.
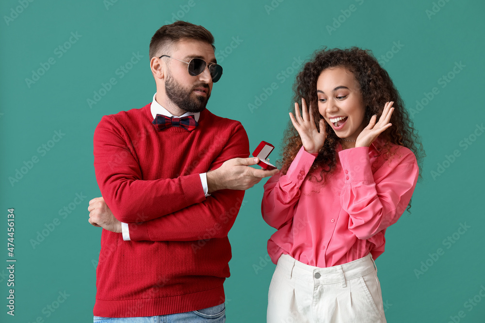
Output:
<path fill-rule="evenodd" d="M 473 139 L 477 124 L 485 121 L 480 94 L 483 1 L 194 0 L 193 7 L 188 0 L 23 1 L 28 6 L 18 15 L 12 10 L 22 0 L 0 3 L 0 246 L 4 246 L 0 262 L 9 259 L 8 208 L 15 208 L 17 260 L 15 317 L 6 314 L 8 271 L 6 262 L 0 265 L 1 322 L 35 322 L 38 317 L 38 322 L 92 322 L 101 236 L 101 229 L 88 223 L 87 212 L 89 200 L 100 195 L 93 168 L 93 132 L 103 115 L 151 102 L 156 89 L 148 44 L 174 14 L 203 25 L 216 39 L 224 76 L 214 85 L 210 111 L 241 121 L 251 151 L 261 140 L 273 143 L 277 148 L 270 156 L 273 161 L 280 157 L 289 121 L 291 85 L 297 73 L 290 67 L 295 58 L 305 60 L 324 45 L 369 48 L 377 58 L 387 54 L 388 61 L 380 59 L 381 64 L 407 108 L 414 109 L 413 121 L 427 157 L 412 214 L 404 213 L 388 229 L 386 252 L 376 261 L 386 317 L 388 322 L 485 322 L 485 299 L 479 294 L 485 286 L 485 136 L 466 146 L 462 141 L 470 135 Z M 351 5 L 355 11 L 347 12 Z M 435 15 L 428 16 L 434 6 Z M 15 19 L 6 21 L 10 15 Z M 326 26 L 335 23 L 334 18 L 342 22 L 329 32 Z M 71 32 L 81 36 L 58 57 L 55 48 L 68 41 Z M 233 37 L 239 44 L 231 48 Z M 394 47 L 392 53 L 394 42 L 401 48 Z M 133 52 L 143 58 L 120 78 L 116 70 L 129 62 Z M 25 79 L 32 78 L 32 70 L 51 57 L 55 64 L 28 86 Z M 455 62 L 465 67 L 453 75 Z M 282 77 L 287 69 L 288 77 Z M 454 78 L 440 83 L 450 72 Z M 87 99 L 93 99 L 94 91 L 111 77 L 117 83 L 90 108 Z M 251 111 L 248 104 L 255 104 L 255 96 L 273 82 L 278 88 Z M 439 92 L 417 110 L 416 101 L 434 87 Z M 267 121 L 270 116 L 274 122 Z M 65 135 L 42 155 L 38 148 L 48 144 L 55 131 Z M 445 162 L 444 172 L 432 176 L 438 163 L 455 150 L 460 155 L 450 158 L 453 163 Z M 38 162 L 12 185 L 9 177 L 34 156 Z M 246 192 L 229 234 L 233 258 L 225 283 L 227 322 L 265 321 L 275 265 L 268 262 L 266 252 L 274 229 L 260 214 L 264 182 Z M 74 203 L 76 194 L 84 200 L 71 204 L 74 210 L 63 218 L 60 210 Z M 33 247 L 32 239 L 55 218 L 59 225 Z M 469 226 L 460 230 L 463 234 L 456 233 L 460 224 Z M 453 244 L 446 243 L 449 236 Z M 429 254 L 438 248 L 444 253 L 433 261 Z M 431 266 L 417 276 L 421 261 Z M 59 292 L 68 295 L 65 302 L 55 311 L 47 310 Z"/>

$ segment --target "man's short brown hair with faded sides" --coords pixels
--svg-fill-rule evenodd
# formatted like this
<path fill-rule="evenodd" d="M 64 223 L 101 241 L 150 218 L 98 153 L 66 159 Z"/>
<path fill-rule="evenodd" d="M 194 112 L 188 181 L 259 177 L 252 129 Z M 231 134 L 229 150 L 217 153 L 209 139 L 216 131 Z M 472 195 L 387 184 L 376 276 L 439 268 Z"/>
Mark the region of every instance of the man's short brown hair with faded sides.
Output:
<path fill-rule="evenodd" d="M 215 49 L 214 36 L 202 26 L 186 21 L 176 21 L 173 24 L 162 26 L 155 32 L 150 41 L 149 56 L 159 57 L 170 53 L 172 46 L 182 39 L 195 39 L 206 42 Z"/>

